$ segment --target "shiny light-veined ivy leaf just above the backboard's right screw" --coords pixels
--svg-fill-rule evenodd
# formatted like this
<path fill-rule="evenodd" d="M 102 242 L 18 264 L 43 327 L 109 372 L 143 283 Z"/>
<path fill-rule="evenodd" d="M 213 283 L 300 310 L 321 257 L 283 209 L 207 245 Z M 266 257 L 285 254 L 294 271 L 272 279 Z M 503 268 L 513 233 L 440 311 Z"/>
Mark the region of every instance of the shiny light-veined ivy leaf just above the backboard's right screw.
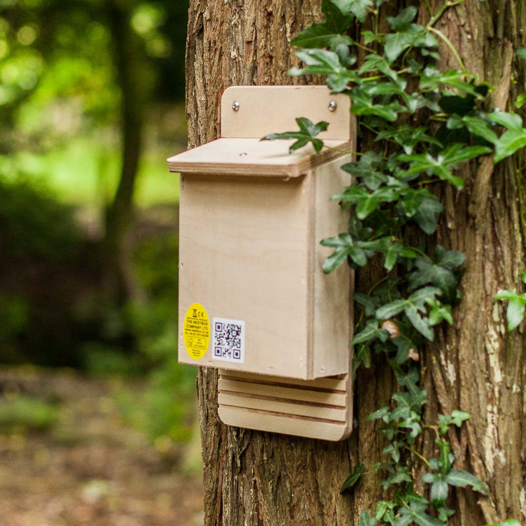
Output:
<path fill-rule="evenodd" d="M 345 90 L 353 78 L 351 72 L 341 65 L 337 53 L 326 49 L 303 49 L 297 51 L 296 55 L 306 67 L 292 67 L 288 71 L 289 75 L 325 75 L 327 85 L 335 93 Z"/>

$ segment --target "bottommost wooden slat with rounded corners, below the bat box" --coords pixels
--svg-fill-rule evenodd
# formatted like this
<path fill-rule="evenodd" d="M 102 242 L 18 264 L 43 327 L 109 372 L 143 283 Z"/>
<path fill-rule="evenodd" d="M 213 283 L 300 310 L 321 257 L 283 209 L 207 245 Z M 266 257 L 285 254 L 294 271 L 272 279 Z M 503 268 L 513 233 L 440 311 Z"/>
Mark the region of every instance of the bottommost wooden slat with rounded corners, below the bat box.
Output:
<path fill-rule="evenodd" d="M 341 440 L 349 432 L 346 424 L 312 421 L 251 411 L 250 409 L 219 406 L 219 418 L 229 426 L 287 433 L 298 437 L 322 440 Z"/>

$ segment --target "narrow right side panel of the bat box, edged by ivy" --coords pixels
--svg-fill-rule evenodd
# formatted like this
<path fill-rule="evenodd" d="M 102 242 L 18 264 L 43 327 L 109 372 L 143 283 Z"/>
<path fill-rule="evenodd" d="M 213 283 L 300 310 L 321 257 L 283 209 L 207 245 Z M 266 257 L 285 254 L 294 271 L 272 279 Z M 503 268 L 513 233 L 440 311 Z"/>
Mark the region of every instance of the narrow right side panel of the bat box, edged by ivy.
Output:
<path fill-rule="evenodd" d="M 320 241 L 347 231 L 349 214 L 331 196 L 341 192 L 351 177 L 340 169 L 350 156 L 342 156 L 314 172 L 316 184 L 315 228 L 313 235 L 313 316 L 311 377 L 338 375 L 349 371 L 352 331 L 352 270 L 347 263 L 331 274 L 323 274 L 323 261 L 332 249 Z"/>

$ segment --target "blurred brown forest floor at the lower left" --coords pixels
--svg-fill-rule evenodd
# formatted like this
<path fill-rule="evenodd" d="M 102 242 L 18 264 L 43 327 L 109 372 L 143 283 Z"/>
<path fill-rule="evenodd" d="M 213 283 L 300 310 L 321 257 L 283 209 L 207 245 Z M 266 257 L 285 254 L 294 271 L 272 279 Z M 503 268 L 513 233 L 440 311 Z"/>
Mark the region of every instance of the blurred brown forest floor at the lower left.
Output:
<path fill-rule="evenodd" d="M 186 446 L 163 457 L 126 427 L 114 382 L 70 370 L 0 368 L 0 399 L 21 393 L 58 408 L 47 429 L 0 432 L 1 526 L 203 523 L 201 477 L 180 470 Z"/>

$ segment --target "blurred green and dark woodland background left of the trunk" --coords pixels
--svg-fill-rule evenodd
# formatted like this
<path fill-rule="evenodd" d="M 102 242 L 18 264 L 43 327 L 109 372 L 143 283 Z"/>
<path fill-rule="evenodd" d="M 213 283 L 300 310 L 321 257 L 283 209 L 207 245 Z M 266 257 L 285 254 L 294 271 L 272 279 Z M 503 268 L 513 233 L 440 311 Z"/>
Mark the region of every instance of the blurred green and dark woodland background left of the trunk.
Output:
<path fill-rule="evenodd" d="M 165 450 L 193 424 L 165 163 L 186 147 L 187 9 L 0 0 L 0 362 L 147 376 L 115 397 Z"/>

